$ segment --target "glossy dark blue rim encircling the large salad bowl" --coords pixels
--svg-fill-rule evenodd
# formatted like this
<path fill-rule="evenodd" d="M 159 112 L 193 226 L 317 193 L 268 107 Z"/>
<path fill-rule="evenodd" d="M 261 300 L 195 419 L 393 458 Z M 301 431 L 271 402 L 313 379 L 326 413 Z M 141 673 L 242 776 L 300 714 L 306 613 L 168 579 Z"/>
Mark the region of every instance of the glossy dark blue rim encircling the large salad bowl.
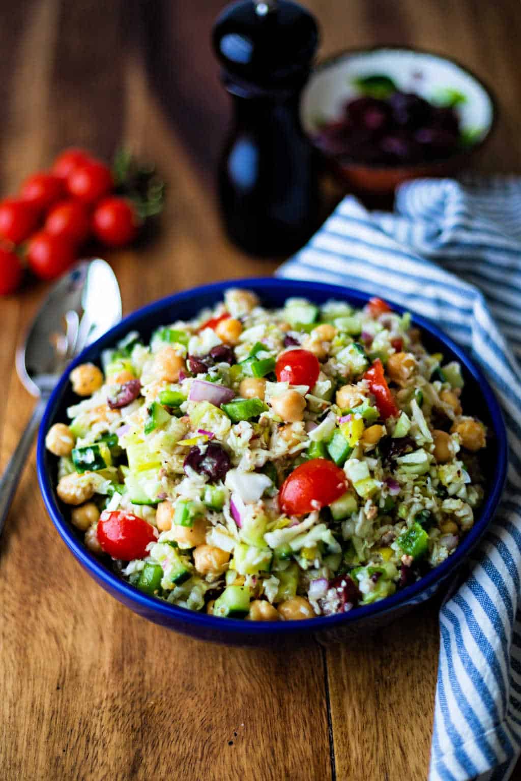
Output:
<path fill-rule="evenodd" d="M 186 291 L 180 291 L 138 308 L 135 312 L 132 312 L 130 315 L 123 318 L 120 323 L 103 334 L 97 341 L 85 348 L 84 351 L 70 363 L 70 366 L 67 367 L 65 373 L 63 373 L 60 378 L 59 383 L 56 385 L 55 390 L 48 400 L 38 433 L 36 457 L 37 479 L 45 508 L 47 509 L 48 515 L 50 515 L 56 530 L 58 530 L 60 537 L 62 537 L 62 540 L 66 543 L 67 547 L 70 548 L 70 551 L 80 564 L 87 569 L 87 572 L 91 576 L 94 576 L 95 580 L 101 581 L 112 595 L 118 594 L 118 597 L 116 598 L 120 598 L 120 601 L 123 601 L 127 607 L 130 607 L 130 603 L 132 603 L 135 605 L 136 611 L 141 615 L 144 612 L 146 612 L 147 615 L 155 613 L 158 617 L 162 617 L 162 619 L 171 619 L 172 623 L 184 623 L 185 625 L 190 625 L 194 629 L 214 629 L 216 635 L 227 632 L 234 634 L 237 637 L 261 634 L 292 635 L 295 633 L 302 633 L 303 629 L 308 627 L 309 624 L 305 620 L 294 622 L 258 622 L 221 618 L 202 612 L 191 611 L 187 608 L 180 608 L 175 604 L 171 604 L 170 602 L 161 600 L 157 597 L 150 597 L 140 590 L 137 590 L 134 586 L 131 586 L 130 583 L 127 583 L 120 578 L 120 576 L 116 575 L 115 572 L 110 571 L 108 567 L 103 565 L 95 555 L 87 550 L 84 543 L 77 538 L 73 526 L 66 520 L 65 515 L 63 515 L 59 509 L 59 505 L 55 500 L 55 493 L 50 475 L 45 468 L 45 434 L 48 431 L 49 424 L 55 416 L 55 412 L 62 403 L 62 394 L 66 390 L 70 371 L 74 366 L 83 362 L 86 356 L 89 360 L 92 360 L 92 354 L 95 354 L 94 359 L 98 359 L 102 349 L 113 344 L 117 338 L 120 338 L 124 333 L 133 330 L 138 323 L 143 321 L 143 319 L 146 319 L 147 316 L 154 314 L 155 312 L 159 312 L 162 308 L 169 308 L 176 305 L 177 302 L 189 300 L 194 302 L 195 308 L 198 305 L 197 300 L 199 295 L 212 293 L 217 294 L 220 297 L 227 288 L 237 286 L 258 291 L 261 297 L 262 291 L 287 288 L 287 296 L 292 294 L 308 294 L 310 298 L 312 298 L 313 291 L 319 289 L 331 296 L 337 295 L 341 298 L 346 298 L 354 305 L 364 305 L 366 301 L 371 298 L 369 294 L 341 285 L 325 284 L 307 280 L 291 280 L 278 277 L 248 277 L 244 279 L 223 280 L 199 287 L 192 287 Z M 406 307 L 394 304 L 391 299 L 387 298 L 387 301 L 389 301 L 395 311 L 400 313 L 407 311 Z M 427 572 L 426 575 L 416 583 L 412 583 L 412 585 L 397 591 L 384 600 L 373 602 L 373 604 L 363 605 L 348 613 L 317 616 L 312 620 L 312 624 L 309 626 L 309 633 L 314 634 L 319 630 L 334 629 L 339 626 L 362 621 L 362 619 L 383 615 L 386 612 L 391 612 L 396 608 L 405 606 L 405 604 L 409 603 L 414 597 L 419 597 L 420 594 L 427 592 L 438 580 L 442 580 L 444 579 L 444 576 L 448 576 L 451 572 L 454 572 L 459 564 L 461 564 L 469 555 L 473 547 L 480 542 L 501 498 L 507 470 L 507 437 L 505 423 L 498 400 L 495 398 L 494 392 L 483 373 L 481 373 L 480 369 L 475 366 L 473 361 L 458 344 L 444 334 L 437 325 L 431 323 L 423 316 L 413 313 L 412 319 L 413 322 L 425 330 L 426 333 L 433 336 L 437 341 L 443 342 L 450 348 L 459 361 L 462 362 L 463 366 L 466 367 L 469 374 L 473 377 L 473 380 L 480 386 L 482 396 L 491 415 L 491 421 L 498 444 L 498 458 L 494 465 L 494 474 L 491 479 L 491 491 L 487 495 L 484 505 L 480 508 L 479 519 L 469 533 L 467 533 L 462 543 L 456 548 L 455 552 L 445 559 L 444 562 L 441 562 L 437 567 L 430 570 L 430 572 Z"/>

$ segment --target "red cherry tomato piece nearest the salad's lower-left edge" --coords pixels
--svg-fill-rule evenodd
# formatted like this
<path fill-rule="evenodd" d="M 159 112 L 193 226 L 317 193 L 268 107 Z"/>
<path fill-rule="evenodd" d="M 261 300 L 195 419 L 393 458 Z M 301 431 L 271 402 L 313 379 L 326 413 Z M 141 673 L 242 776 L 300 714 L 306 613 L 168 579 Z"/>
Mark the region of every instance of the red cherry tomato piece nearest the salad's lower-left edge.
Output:
<path fill-rule="evenodd" d="M 123 562 L 143 558 L 147 553 L 148 543 L 156 539 L 153 526 L 137 515 L 123 510 L 104 510 L 100 515 L 96 533 L 102 551 L 112 558 L 123 559 Z"/>

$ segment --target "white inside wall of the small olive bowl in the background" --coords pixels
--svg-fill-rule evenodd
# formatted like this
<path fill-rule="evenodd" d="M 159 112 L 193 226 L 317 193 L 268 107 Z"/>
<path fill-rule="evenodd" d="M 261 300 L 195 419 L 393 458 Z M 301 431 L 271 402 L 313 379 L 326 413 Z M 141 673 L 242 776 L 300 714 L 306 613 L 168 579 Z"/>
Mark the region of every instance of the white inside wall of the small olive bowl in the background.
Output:
<path fill-rule="evenodd" d="M 319 67 L 302 94 L 302 125 L 315 135 L 319 125 L 338 119 L 344 104 L 359 95 L 355 80 L 373 75 L 388 76 L 404 92 L 415 92 L 433 100 L 444 89 L 466 96 L 456 106 L 463 132 L 473 134 L 474 143 L 491 129 L 494 106 L 484 87 L 455 62 L 410 49 L 382 48 L 371 52 L 346 52 Z"/>

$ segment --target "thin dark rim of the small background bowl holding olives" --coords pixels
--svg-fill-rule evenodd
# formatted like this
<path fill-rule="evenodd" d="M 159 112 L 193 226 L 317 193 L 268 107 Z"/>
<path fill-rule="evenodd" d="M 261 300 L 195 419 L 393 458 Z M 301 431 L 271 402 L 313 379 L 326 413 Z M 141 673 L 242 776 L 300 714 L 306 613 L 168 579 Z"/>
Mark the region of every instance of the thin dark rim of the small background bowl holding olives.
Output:
<path fill-rule="evenodd" d="M 311 83 L 312 77 L 315 73 L 319 73 L 321 70 L 326 70 L 328 67 L 334 65 L 336 62 L 338 62 L 341 59 L 348 59 L 348 57 L 351 57 L 353 55 L 373 54 L 373 52 L 384 52 L 387 50 L 391 50 L 394 52 L 412 52 L 413 54 L 427 55 L 429 57 L 433 57 L 434 59 L 444 60 L 445 62 L 451 62 L 452 65 L 455 65 L 457 68 L 459 68 L 464 73 L 466 73 L 469 77 L 471 77 L 474 81 L 476 81 L 476 83 L 479 84 L 480 87 L 487 94 L 487 97 L 491 102 L 491 109 L 492 109 L 491 124 L 487 130 L 487 133 L 476 144 L 472 144 L 466 149 L 462 149 L 459 152 L 455 152 L 454 155 L 449 155 L 448 157 L 444 157 L 439 160 L 414 162 L 411 163 L 409 166 L 401 166 L 401 165 L 382 166 L 382 165 L 373 165 L 369 162 L 356 162 L 356 160 L 349 160 L 349 159 L 346 159 L 344 162 L 339 160 L 337 155 L 330 155 L 327 152 L 324 152 L 322 148 L 316 145 L 312 135 L 310 135 L 305 130 L 304 125 L 302 123 L 302 127 L 304 129 L 305 135 L 309 138 L 313 146 L 320 152 L 321 155 L 323 155 L 325 159 L 335 162 L 338 166 L 341 166 L 341 168 L 344 169 L 364 169 L 372 172 L 416 171 L 425 168 L 434 170 L 438 168 L 443 168 L 444 166 L 447 165 L 448 162 L 451 163 L 454 162 L 457 165 L 459 161 L 462 161 L 468 158 L 469 155 L 473 155 L 475 152 L 478 152 L 481 148 L 484 147 L 484 144 L 487 144 L 487 142 L 490 141 L 491 135 L 495 132 L 498 126 L 498 113 L 499 113 L 498 98 L 496 98 L 494 90 L 492 89 L 492 87 L 489 86 L 487 81 L 484 81 L 481 77 L 476 76 L 476 73 L 474 73 L 474 71 L 471 70 L 466 65 L 463 65 L 463 63 L 459 59 L 455 57 L 448 57 L 447 55 L 444 54 L 440 54 L 440 52 L 435 52 L 433 49 L 422 48 L 420 46 L 405 46 L 402 44 L 380 44 L 380 45 L 369 45 L 369 46 L 362 46 L 362 47 L 348 46 L 347 48 L 341 49 L 337 52 L 334 52 L 333 54 L 327 55 L 323 59 L 319 59 L 318 62 L 316 62 L 316 65 L 313 66 L 311 73 L 309 74 L 309 80 L 304 87 L 304 91 L 306 87 L 308 87 L 309 84 Z"/>

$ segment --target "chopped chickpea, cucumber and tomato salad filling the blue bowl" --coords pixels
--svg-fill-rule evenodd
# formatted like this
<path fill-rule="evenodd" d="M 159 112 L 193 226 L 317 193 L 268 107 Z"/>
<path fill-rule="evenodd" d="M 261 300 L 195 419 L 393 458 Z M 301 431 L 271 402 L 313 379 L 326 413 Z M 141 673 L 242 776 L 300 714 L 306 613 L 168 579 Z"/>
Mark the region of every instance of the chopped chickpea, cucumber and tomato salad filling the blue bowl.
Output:
<path fill-rule="evenodd" d="M 450 557 L 484 499 L 459 362 L 380 298 L 265 308 L 230 288 L 70 381 L 45 438 L 59 499 L 90 551 L 182 608 L 355 611 Z"/>

